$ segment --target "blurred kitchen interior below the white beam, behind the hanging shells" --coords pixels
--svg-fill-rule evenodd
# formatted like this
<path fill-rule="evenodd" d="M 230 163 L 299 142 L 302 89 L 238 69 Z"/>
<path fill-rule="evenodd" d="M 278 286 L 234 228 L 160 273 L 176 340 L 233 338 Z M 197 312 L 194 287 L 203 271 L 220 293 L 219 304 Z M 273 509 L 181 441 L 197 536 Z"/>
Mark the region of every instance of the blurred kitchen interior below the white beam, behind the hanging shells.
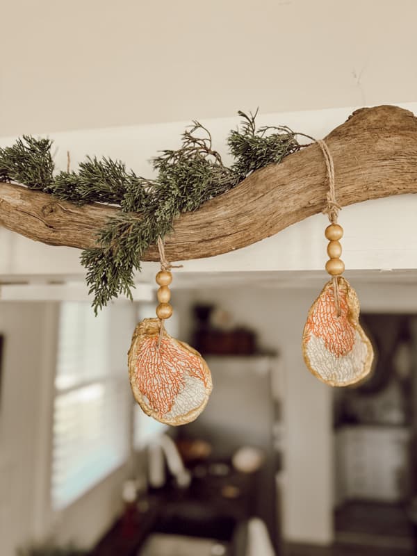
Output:
<path fill-rule="evenodd" d="M 97 318 L 0 302 L 1 555 L 414 553 L 417 316 L 363 311 L 375 372 L 329 389 L 300 350 L 313 290 L 211 283 L 174 290 L 167 328 L 214 384 L 174 428 L 133 403 L 126 373 L 153 293 Z"/>

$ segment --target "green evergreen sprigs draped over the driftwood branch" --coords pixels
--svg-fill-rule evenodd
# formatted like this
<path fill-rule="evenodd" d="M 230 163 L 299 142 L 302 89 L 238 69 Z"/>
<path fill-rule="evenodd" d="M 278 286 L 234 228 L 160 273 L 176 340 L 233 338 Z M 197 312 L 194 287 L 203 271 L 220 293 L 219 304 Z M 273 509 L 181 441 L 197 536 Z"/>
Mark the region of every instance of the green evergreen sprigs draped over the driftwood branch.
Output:
<path fill-rule="evenodd" d="M 0 181 L 21 183 L 75 204 L 120 206 L 120 213 L 99 231 L 99 247 L 81 254 L 97 314 L 120 293 L 132 299 L 133 273 L 140 270 L 142 255 L 158 236 L 170 233 L 174 218 L 197 210 L 254 170 L 279 163 L 301 148 L 297 133 L 288 127 L 256 129 L 256 113 L 238 114 L 243 118 L 240 129 L 231 130 L 227 139 L 234 157 L 231 167 L 213 149 L 208 129 L 193 122 L 183 132 L 179 149 L 164 150 L 153 159 L 155 179 L 137 176 L 120 161 L 90 157 L 76 172 L 54 175 L 51 141 L 23 136 L 12 147 L 0 149 Z"/>

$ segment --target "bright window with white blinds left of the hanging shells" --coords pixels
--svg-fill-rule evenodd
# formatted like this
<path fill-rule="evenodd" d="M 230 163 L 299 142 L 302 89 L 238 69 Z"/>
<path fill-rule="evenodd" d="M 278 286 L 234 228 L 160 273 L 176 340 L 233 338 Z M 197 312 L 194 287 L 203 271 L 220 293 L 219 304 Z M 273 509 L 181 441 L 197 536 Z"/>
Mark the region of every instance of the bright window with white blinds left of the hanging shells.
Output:
<path fill-rule="evenodd" d="M 63 509 L 120 466 L 129 450 L 126 348 L 108 307 L 60 304 L 51 504 Z M 117 319 L 116 319 L 117 320 Z M 129 338 L 127 338 L 129 340 Z"/>

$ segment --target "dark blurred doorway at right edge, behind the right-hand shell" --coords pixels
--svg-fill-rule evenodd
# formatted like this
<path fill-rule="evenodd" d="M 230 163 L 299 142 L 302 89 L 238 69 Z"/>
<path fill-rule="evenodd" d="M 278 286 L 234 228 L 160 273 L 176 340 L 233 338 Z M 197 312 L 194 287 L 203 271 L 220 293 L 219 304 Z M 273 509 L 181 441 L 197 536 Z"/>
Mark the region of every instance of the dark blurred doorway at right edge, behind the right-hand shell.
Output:
<path fill-rule="evenodd" d="M 364 313 L 361 324 L 373 371 L 334 390 L 335 539 L 414 554 L 417 317 Z"/>

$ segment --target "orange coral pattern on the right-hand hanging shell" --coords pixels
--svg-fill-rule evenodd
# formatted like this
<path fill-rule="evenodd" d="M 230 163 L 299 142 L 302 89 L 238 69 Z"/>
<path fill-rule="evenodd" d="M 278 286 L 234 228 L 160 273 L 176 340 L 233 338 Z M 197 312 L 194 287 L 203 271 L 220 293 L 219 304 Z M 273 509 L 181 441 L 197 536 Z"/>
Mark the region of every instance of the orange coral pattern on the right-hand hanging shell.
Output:
<path fill-rule="evenodd" d="M 350 353 L 354 346 L 355 328 L 348 319 L 349 306 L 346 291 L 339 288 L 341 315 L 336 316 L 334 292 L 330 285 L 318 298 L 316 308 L 306 322 L 308 336 L 311 334 L 325 341 L 325 347 L 336 357 Z"/>

